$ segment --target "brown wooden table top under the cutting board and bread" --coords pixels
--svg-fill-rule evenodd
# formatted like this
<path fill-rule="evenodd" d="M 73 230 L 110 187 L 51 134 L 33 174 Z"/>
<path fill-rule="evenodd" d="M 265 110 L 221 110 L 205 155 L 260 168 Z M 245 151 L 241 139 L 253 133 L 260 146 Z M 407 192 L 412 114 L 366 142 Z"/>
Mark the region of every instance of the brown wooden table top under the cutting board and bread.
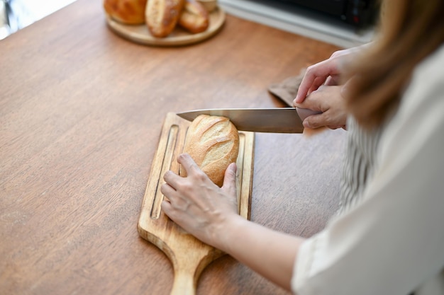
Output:
<path fill-rule="evenodd" d="M 267 86 L 337 49 L 233 16 L 197 45 L 137 45 L 90 0 L 2 40 L 1 294 L 169 294 L 169 260 L 136 229 L 167 112 L 282 107 Z M 256 134 L 252 221 L 321 230 L 344 135 Z M 288 294 L 228 255 L 197 293 Z"/>

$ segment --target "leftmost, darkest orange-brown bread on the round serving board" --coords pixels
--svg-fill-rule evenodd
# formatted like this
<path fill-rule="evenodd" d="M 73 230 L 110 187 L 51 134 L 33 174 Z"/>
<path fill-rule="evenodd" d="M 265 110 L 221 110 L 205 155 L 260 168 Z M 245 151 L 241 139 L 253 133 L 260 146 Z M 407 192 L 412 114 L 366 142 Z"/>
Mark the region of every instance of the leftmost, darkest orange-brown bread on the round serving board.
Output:
<path fill-rule="evenodd" d="M 147 0 L 104 0 L 104 9 L 111 18 L 126 25 L 145 23 Z"/>

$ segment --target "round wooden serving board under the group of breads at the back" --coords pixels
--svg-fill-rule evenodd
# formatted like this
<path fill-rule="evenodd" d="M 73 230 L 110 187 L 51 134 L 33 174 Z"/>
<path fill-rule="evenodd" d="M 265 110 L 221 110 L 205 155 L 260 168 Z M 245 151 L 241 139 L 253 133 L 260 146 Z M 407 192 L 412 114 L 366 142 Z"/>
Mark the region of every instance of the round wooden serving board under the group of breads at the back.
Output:
<path fill-rule="evenodd" d="M 201 42 L 218 33 L 225 22 L 225 11 L 220 7 L 216 7 L 209 15 L 209 28 L 204 32 L 192 34 L 177 25 L 172 33 L 165 38 L 153 37 L 145 24 L 124 25 L 113 20 L 108 14 L 106 14 L 106 23 L 115 33 L 133 42 L 152 46 L 181 46 Z"/>

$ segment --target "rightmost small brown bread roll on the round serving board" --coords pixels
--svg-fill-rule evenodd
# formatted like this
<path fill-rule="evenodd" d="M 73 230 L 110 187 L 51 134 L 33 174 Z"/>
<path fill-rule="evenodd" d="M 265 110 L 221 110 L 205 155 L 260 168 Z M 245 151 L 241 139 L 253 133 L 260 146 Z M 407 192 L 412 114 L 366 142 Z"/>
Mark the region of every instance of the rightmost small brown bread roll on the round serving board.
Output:
<path fill-rule="evenodd" d="M 204 32 L 209 26 L 209 14 L 197 0 L 186 0 L 179 17 L 179 25 L 191 33 Z"/>

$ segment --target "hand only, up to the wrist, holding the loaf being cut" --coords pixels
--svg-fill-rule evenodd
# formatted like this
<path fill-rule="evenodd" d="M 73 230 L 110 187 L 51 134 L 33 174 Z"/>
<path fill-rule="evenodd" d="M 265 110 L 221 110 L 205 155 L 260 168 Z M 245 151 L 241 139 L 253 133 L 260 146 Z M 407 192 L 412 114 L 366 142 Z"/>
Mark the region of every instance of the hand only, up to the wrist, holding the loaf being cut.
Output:
<path fill-rule="evenodd" d="M 168 200 L 162 210 L 174 222 L 199 240 L 225 250 L 221 238 L 228 223 L 238 215 L 235 186 L 236 166 L 228 166 L 223 186 L 215 185 L 196 165 L 188 154 L 181 154 L 177 161 L 187 171 L 187 177 L 167 171 L 165 184 L 160 188 Z"/>

